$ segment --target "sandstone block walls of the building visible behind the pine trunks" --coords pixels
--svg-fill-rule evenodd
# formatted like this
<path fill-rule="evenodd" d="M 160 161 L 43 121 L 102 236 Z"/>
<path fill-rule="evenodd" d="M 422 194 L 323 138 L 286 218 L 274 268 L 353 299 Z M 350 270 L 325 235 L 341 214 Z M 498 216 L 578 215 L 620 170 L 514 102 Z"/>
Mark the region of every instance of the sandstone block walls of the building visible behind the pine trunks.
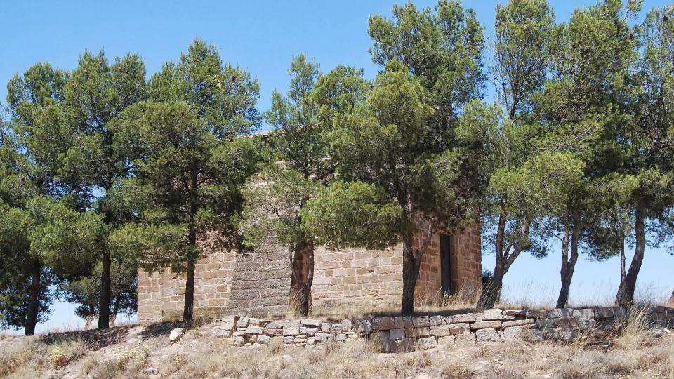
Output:
<path fill-rule="evenodd" d="M 415 239 L 415 244 L 418 241 Z M 479 291 L 482 284 L 480 225 L 436 234 L 423 255 L 418 298 Z M 286 314 L 291 253 L 270 242 L 237 254 L 204 246 L 194 279 L 196 314 L 268 317 Z M 172 272 L 138 272 L 138 322 L 180 319 L 185 278 Z M 364 306 L 390 309 L 402 300 L 402 244 L 384 250 L 315 250 L 312 309 Z"/>

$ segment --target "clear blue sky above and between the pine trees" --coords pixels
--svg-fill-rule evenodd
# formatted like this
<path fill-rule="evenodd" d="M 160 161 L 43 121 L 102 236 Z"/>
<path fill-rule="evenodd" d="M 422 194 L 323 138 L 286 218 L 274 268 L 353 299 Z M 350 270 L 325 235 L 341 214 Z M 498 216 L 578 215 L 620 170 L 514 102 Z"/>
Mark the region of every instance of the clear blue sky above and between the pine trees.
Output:
<path fill-rule="evenodd" d="M 34 62 L 47 61 L 65 69 L 77 65 L 78 55 L 105 48 L 110 58 L 127 51 L 145 59 L 152 74 L 166 60 L 175 60 L 199 37 L 215 44 L 223 60 L 248 69 L 262 86 L 258 108 L 270 105 L 272 91 L 285 91 L 286 69 L 291 57 L 304 52 L 324 71 L 340 63 L 362 67 L 366 77 L 378 70 L 370 60 L 367 18 L 372 13 L 390 15 L 400 1 L 3 1 L 0 5 L 0 99 L 4 84 L 15 72 Z M 464 1 L 491 34 L 494 9 L 501 1 Z M 551 0 L 557 21 L 566 21 L 577 6 L 595 1 Z M 419 6 L 434 1 L 414 1 Z M 645 8 L 664 0 L 646 0 Z M 491 88 L 489 88 L 491 91 Z M 489 95 L 488 95 L 489 96 Z M 630 257 L 628 257 L 630 258 Z M 483 258 L 494 267 L 493 255 Z M 556 298 L 560 254 L 536 260 L 522 256 L 505 278 L 513 300 Z M 642 291 L 664 297 L 674 290 L 674 258 L 662 250 L 648 249 L 639 278 Z M 571 288 L 572 302 L 612 298 L 619 281 L 617 259 L 597 264 L 581 260 Z M 77 325 L 74 307 L 54 306 L 55 312 L 39 331 Z"/>

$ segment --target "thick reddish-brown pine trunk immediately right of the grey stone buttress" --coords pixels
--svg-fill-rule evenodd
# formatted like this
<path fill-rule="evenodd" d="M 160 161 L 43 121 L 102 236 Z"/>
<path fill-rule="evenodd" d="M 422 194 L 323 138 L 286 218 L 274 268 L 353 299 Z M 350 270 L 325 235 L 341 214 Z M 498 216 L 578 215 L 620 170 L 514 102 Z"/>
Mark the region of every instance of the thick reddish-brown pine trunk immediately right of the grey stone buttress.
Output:
<path fill-rule="evenodd" d="M 310 310 L 314 281 L 314 241 L 296 244 L 294 250 L 288 307 L 289 312 L 306 316 Z"/>

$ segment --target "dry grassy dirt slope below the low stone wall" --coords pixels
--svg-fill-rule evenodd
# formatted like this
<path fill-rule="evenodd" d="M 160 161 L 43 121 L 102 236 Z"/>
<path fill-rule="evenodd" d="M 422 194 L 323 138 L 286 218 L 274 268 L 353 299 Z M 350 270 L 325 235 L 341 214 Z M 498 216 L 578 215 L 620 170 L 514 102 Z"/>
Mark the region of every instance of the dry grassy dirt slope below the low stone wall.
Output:
<path fill-rule="evenodd" d="M 674 378 L 674 335 L 620 335 L 569 345 L 475 345 L 405 354 L 368 343 L 302 349 L 233 347 L 212 324 L 119 326 L 33 337 L 4 335 L 0 378 Z"/>

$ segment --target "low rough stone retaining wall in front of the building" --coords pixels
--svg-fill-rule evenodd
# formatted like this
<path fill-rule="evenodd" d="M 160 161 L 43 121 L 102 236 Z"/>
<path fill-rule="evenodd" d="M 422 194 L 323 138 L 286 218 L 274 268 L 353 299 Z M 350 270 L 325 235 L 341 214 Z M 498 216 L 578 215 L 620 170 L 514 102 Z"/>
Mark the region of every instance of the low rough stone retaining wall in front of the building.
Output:
<path fill-rule="evenodd" d="M 674 308 L 650 307 L 650 323 L 674 328 Z M 527 336 L 534 340 L 571 341 L 599 328 L 626 321 L 623 307 L 555 310 L 485 310 L 482 313 L 374 317 L 370 319 L 268 321 L 229 316 L 216 320 L 221 337 L 237 345 L 279 343 L 300 347 L 330 341 L 370 340 L 381 352 L 409 352 L 434 347 L 511 343 Z"/>

